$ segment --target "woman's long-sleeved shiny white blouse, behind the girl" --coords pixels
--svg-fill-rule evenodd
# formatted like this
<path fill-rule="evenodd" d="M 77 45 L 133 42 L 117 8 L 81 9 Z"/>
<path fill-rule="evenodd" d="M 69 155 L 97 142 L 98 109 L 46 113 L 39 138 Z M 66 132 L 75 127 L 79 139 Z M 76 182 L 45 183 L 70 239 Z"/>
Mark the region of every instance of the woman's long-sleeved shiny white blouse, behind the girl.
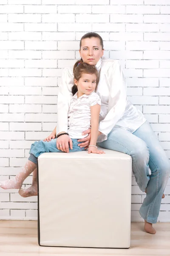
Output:
<path fill-rule="evenodd" d="M 97 142 L 107 140 L 115 127 L 121 127 L 133 133 L 145 121 L 143 114 L 127 100 L 126 82 L 119 61 L 102 57 L 96 64 L 100 71 L 96 93 L 101 99 L 99 131 L 102 134 Z M 63 70 L 58 94 L 57 130 L 68 131 L 68 111 L 72 98 L 71 88 L 74 85 L 73 68 Z"/>

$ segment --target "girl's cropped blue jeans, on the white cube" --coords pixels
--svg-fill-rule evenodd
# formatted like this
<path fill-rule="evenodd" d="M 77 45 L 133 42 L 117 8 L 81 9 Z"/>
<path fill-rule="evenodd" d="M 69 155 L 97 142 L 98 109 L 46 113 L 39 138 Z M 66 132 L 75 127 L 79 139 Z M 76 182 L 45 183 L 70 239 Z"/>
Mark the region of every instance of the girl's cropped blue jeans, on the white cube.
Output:
<path fill-rule="evenodd" d="M 79 139 L 71 139 L 73 142 L 73 149 L 69 147 L 69 152 L 75 152 L 75 151 L 84 151 L 85 148 L 80 148 L 78 146 L 79 143 L 77 140 Z M 37 157 L 40 156 L 40 154 L 45 153 L 45 152 L 62 152 L 61 150 L 58 150 L 57 148 L 57 139 L 52 139 L 51 141 L 35 141 L 34 143 L 31 144 L 31 149 L 29 151 L 29 158 L 31 162 L 37 164 Z"/>

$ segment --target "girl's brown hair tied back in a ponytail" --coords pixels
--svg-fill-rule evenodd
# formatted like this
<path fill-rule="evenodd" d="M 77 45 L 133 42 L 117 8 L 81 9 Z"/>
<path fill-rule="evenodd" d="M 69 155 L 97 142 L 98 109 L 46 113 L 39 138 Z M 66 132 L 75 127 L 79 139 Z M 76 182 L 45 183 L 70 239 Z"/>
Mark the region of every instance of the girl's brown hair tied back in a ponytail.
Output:
<path fill-rule="evenodd" d="M 74 64 L 73 73 L 74 73 L 74 79 L 76 79 L 77 81 L 79 81 L 79 79 L 83 73 L 84 74 L 95 74 L 96 75 L 96 86 L 97 86 L 98 72 L 94 65 L 90 65 L 90 64 L 84 63 L 82 61 L 77 61 Z M 72 91 L 73 95 L 75 93 L 77 93 L 78 90 L 77 90 L 77 86 L 75 84 L 73 85 L 71 91 Z"/>

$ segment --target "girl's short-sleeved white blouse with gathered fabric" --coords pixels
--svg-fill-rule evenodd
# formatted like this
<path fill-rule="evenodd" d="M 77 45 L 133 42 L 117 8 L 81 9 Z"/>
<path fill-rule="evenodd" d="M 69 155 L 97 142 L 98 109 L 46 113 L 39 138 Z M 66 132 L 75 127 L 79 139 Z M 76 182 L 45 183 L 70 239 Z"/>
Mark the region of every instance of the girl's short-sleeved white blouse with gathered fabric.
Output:
<path fill-rule="evenodd" d="M 77 93 L 71 99 L 68 111 L 68 135 L 73 139 L 82 139 L 88 136 L 82 135 L 83 131 L 91 128 L 91 107 L 101 105 L 97 93 L 83 94 L 77 98 Z"/>

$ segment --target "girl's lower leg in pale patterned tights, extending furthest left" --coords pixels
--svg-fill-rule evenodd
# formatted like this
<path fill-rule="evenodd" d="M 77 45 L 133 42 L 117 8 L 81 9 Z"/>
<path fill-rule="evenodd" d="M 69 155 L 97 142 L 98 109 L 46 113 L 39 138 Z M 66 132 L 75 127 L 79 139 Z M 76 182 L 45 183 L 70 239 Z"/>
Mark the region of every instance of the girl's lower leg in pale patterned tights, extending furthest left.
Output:
<path fill-rule="evenodd" d="M 23 167 L 14 178 L 0 182 L 0 187 L 3 189 L 20 189 L 23 185 L 23 181 L 28 177 L 31 172 L 37 167 L 36 163 L 27 160 L 26 165 Z"/>

